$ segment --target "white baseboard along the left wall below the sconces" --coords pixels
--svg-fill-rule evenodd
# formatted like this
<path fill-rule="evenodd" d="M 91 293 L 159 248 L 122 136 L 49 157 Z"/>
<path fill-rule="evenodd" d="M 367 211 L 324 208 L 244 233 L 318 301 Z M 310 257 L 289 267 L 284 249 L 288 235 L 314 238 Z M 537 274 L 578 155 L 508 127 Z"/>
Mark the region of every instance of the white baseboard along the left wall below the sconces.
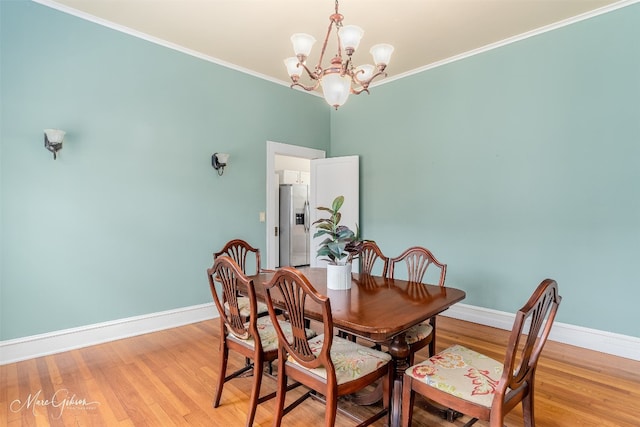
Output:
<path fill-rule="evenodd" d="M 0 341 L 0 365 L 212 319 L 213 303 Z"/>

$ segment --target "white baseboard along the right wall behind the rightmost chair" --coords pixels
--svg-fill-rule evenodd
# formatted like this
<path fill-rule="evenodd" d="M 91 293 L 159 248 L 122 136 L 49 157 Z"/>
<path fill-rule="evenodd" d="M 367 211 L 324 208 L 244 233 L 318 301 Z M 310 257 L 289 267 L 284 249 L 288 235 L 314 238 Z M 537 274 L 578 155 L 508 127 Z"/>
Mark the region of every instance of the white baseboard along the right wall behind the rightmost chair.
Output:
<path fill-rule="evenodd" d="M 506 330 L 511 330 L 515 320 L 513 313 L 460 303 L 452 306 L 442 315 Z M 640 361 L 640 338 L 637 337 L 554 322 L 549 339 Z"/>

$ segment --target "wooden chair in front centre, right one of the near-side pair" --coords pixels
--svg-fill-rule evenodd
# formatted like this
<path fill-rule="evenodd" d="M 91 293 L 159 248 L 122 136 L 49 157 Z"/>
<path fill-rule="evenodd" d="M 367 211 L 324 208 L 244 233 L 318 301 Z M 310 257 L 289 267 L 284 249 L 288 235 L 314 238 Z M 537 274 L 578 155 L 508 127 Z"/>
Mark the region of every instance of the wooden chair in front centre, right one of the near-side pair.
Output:
<path fill-rule="evenodd" d="M 383 409 L 364 420 L 366 426 L 382 418 L 389 407 L 392 381 L 391 356 L 355 342 L 333 336 L 333 318 L 328 297 L 319 294 L 307 277 L 291 267 L 279 269 L 266 285 L 269 314 L 276 318 L 276 307 L 289 313 L 293 336 L 290 342 L 286 331 L 275 325 L 278 334 L 278 391 L 274 427 L 280 426 L 282 417 L 311 396 L 313 391 L 326 399 L 325 426 L 336 422 L 338 397 L 352 394 L 380 378 L 384 378 Z M 305 305 L 322 314 L 323 333 L 305 338 Z M 287 379 L 291 378 L 311 389 L 285 409 Z"/>

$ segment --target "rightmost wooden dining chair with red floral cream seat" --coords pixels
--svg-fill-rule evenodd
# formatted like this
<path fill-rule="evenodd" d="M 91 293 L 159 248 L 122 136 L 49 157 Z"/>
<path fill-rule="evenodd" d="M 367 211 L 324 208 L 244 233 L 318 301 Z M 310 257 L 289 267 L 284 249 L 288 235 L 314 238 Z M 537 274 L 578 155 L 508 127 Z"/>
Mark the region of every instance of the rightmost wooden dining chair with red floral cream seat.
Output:
<path fill-rule="evenodd" d="M 524 425 L 534 427 L 534 382 L 540 352 L 561 301 L 558 285 L 545 279 L 516 313 L 502 363 L 454 345 L 408 368 L 402 388 L 402 425 L 411 425 L 415 393 L 502 427 L 505 415 L 522 402 Z"/>

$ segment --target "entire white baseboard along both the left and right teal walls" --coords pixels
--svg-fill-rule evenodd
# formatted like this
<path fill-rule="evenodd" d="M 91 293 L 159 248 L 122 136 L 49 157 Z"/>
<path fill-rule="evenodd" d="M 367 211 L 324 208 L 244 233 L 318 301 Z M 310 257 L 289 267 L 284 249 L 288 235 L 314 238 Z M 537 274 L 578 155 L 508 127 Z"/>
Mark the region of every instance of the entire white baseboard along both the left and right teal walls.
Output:
<path fill-rule="evenodd" d="M 212 319 L 213 303 L 128 317 L 0 342 L 0 365 Z M 515 315 L 456 304 L 443 316 L 510 330 Z M 549 339 L 640 361 L 640 338 L 556 322 Z"/>

